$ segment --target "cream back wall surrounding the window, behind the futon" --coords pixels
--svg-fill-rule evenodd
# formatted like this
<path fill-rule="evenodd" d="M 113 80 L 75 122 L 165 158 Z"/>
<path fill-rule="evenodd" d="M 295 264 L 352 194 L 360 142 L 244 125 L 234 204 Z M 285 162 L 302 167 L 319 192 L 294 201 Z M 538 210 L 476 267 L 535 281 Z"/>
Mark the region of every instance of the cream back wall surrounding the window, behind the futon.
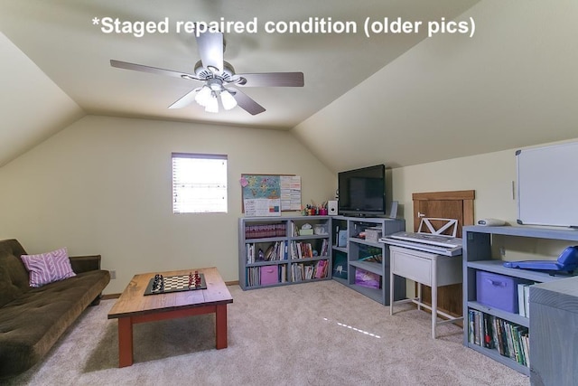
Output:
<path fill-rule="evenodd" d="M 172 152 L 228 155 L 228 213 L 172 214 Z M 0 240 L 101 254 L 117 271 L 106 294 L 139 272 L 214 266 L 237 280 L 242 173 L 301 175 L 303 204 L 335 192 L 288 132 L 88 116 L 0 168 Z"/>

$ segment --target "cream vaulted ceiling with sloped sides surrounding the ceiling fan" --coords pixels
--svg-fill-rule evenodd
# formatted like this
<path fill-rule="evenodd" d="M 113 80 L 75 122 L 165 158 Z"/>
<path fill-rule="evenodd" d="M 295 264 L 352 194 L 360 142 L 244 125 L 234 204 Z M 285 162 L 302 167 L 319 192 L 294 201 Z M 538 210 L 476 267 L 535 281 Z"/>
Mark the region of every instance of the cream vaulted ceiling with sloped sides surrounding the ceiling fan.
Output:
<path fill-rule="evenodd" d="M 578 137 L 578 5 L 540 3 L 546 2 L 4 0 L 0 165 L 85 114 L 292 129 L 333 170 L 415 165 Z M 125 28 L 109 33 L 103 18 Z M 366 21 L 378 28 L 386 18 L 406 21 L 406 31 L 366 35 Z M 194 103 L 168 109 L 198 84 L 109 64 L 192 72 L 195 38 L 177 33 L 177 25 L 221 21 L 256 29 L 225 29 L 225 60 L 236 71 L 303 71 L 305 87 L 244 89 L 266 108 L 256 116 L 241 108 L 207 113 Z M 322 21 L 326 28 L 350 22 L 357 31 L 282 31 L 290 22 L 321 28 Z M 469 30 L 427 36 L 429 23 L 450 21 Z M 135 22 L 166 22 L 168 31 L 137 36 L 126 27 Z M 367 141 L 352 147 L 356 137 L 372 138 L 370 151 Z"/>

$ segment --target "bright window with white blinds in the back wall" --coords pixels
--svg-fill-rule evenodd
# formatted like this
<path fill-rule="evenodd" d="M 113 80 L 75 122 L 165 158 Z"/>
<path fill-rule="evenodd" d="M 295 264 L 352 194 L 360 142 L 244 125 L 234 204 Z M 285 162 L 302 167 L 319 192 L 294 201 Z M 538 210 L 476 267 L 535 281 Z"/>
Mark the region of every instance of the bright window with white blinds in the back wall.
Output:
<path fill-rule="evenodd" d="M 172 212 L 227 212 L 227 155 L 172 153 Z"/>

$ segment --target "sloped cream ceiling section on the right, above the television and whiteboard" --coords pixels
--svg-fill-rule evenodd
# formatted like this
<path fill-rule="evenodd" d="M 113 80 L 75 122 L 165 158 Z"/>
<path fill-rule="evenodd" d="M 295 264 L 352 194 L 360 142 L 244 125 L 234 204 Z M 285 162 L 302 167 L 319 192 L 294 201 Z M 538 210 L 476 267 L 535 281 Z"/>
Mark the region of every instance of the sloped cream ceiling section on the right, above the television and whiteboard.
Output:
<path fill-rule="evenodd" d="M 482 1 L 465 15 L 472 38 L 420 42 L 294 134 L 337 171 L 578 138 L 578 2 Z"/>

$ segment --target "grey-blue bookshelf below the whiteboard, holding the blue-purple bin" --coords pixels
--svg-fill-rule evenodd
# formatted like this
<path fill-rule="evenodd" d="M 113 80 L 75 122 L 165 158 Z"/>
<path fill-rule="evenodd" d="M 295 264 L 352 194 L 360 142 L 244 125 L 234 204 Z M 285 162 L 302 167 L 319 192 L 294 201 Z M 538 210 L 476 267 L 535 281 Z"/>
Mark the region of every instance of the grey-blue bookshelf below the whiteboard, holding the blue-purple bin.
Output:
<path fill-rule="evenodd" d="M 561 242 L 567 242 L 568 245 L 573 245 L 578 241 L 578 231 L 573 230 L 557 230 L 549 228 L 534 228 L 526 226 L 505 226 L 505 227 L 484 227 L 484 226 L 466 226 L 462 230 L 463 235 L 463 312 L 464 312 L 464 327 L 463 327 L 463 344 L 471 349 L 483 353 L 490 358 L 507 365 L 508 367 L 516 370 L 517 372 L 522 372 L 523 374 L 530 375 L 529 358 L 522 355 L 521 357 L 513 354 L 511 358 L 508 353 L 504 353 L 504 349 L 499 349 L 496 344 L 488 344 L 488 347 L 484 347 L 483 342 L 476 342 L 475 330 L 476 327 L 472 328 L 470 315 L 479 315 L 479 317 L 485 317 L 488 320 L 489 325 L 495 323 L 493 321 L 498 321 L 498 323 L 511 331 L 519 331 L 522 334 L 527 334 L 528 339 L 526 343 L 522 340 L 522 350 L 524 350 L 523 344 L 529 344 L 532 346 L 532 331 L 530 330 L 530 318 L 525 317 L 516 313 L 504 311 L 498 307 L 487 306 L 481 304 L 477 301 L 477 286 L 479 283 L 476 282 L 476 277 L 478 271 L 489 272 L 490 274 L 498 274 L 507 278 L 520 279 L 524 281 L 530 281 L 531 283 L 548 283 L 555 280 L 560 280 L 568 278 L 567 275 L 556 275 L 552 276 L 545 272 L 532 271 L 527 269 L 517 269 L 517 268 L 505 268 L 503 266 L 503 261 L 500 259 L 492 259 L 492 249 L 499 249 L 500 244 L 504 240 L 510 238 L 519 238 L 522 242 L 527 243 L 540 243 L 548 242 L 551 240 L 559 240 Z M 518 240 L 519 241 L 519 240 Z M 527 259 L 532 259 L 528 256 Z M 480 284 L 482 285 L 482 284 Z M 533 286 L 530 286 L 532 288 Z M 533 289 L 530 289 L 530 294 Z M 472 322 L 475 322 L 472 321 Z M 500 328 L 500 332 L 503 331 Z M 510 334 L 508 333 L 508 334 Z M 480 334 L 478 334 L 480 335 Z M 493 337 L 493 334 L 492 334 Z M 514 337 L 514 340 L 517 338 Z M 492 339 L 493 340 L 493 339 Z M 519 342 L 517 343 L 519 346 Z M 500 353 L 500 351 L 502 353 Z M 516 348 L 514 347 L 514 351 Z M 507 356 L 508 355 L 508 356 Z M 530 354 L 531 357 L 531 354 Z"/>

